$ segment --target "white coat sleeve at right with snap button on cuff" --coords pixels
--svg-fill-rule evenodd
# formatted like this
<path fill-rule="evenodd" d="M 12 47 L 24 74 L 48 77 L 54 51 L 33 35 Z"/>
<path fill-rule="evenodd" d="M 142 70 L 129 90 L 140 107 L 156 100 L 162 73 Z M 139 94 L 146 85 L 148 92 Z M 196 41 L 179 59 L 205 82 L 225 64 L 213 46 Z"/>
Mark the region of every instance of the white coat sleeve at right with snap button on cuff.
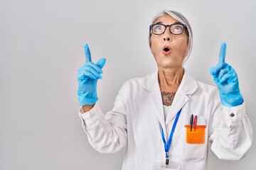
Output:
<path fill-rule="evenodd" d="M 245 102 L 240 106 L 225 107 L 221 105 L 217 91 L 213 102 L 218 104 L 210 127 L 211 149 L 220 159 L 238 161 L 252 145 L 252 125 L 245 113 Z"/>

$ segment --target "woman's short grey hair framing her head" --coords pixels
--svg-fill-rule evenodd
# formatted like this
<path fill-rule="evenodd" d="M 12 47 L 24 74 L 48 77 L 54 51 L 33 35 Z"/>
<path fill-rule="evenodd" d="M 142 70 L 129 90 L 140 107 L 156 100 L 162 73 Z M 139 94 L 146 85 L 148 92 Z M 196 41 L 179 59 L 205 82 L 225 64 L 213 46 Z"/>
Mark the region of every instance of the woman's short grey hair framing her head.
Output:
<path fill-rule="evenodd" d="M 191 55 L 191 50 L 192 50 L 192 45 L 193 45 L 193 33 L 191 30 L 191 26 L 188 23 L 188 20 L 185 18 L 185 16 L 183 16 L 181 13 L 178 13 L 176 11 L 161 11 L 160 13 L 156 14 L 156 16 L 153 18 L 151 24 L 153 24 L 157 18 L 159 18 L 160 16 L 164 16 L 164 15 L 169 15 L 173 18 L 175 18 L 176 20 L 180 21 L 181 23 L 185 24 L 188 30 L 188 49 L 186 50 L 186 54 L 184 57 L 183 62 L 186 62 L 186 60 L 188 60 L 188 57 Z M 151 33 L 149 32 L 149 46 L 151 47 Z"/>

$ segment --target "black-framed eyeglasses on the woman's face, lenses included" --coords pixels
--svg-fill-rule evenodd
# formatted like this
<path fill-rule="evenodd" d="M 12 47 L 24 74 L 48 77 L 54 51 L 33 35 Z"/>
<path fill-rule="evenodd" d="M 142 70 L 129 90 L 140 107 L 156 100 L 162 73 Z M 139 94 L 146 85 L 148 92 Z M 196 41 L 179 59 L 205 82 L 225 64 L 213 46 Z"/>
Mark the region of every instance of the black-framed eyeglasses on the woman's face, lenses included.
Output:
<path fill-rule="evenodd" d="M 166 27 L 168 27 L 168 26 L 169 26 L 170 33 L 172 33 L 174 35 L 182 34 L 184 29 L 186 28 L 186 25 L 184 25 L 182 23 L 174 23 L 174 24 L 171 24 L 171 25 L 164 25 L 162 23 L 155 23 L 155 24 L 149 26 L 150 34 L 154 33 L 156 35 L 161 35 L 165 32 Z"/>

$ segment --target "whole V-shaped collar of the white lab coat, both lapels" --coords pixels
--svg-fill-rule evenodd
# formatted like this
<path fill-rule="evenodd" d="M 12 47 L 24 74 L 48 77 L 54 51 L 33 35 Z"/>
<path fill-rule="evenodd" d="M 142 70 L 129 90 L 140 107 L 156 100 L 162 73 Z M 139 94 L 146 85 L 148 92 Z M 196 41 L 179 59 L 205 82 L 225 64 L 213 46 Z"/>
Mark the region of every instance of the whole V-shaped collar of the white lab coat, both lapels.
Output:
<path fill-rule="evenodd" d="M 174 97 L 174 101 L 172 103 L 170 113 L 166 118 L 166 121 L 164 120 L 164 108 L 158 81 L 158 69 L 156 69 L 156 71 L 154 72 L 151 72 L 145 77 L 142 87 L 146 91 L 149 91 L 149 95 L 147 98 L 151 103 L 151 107 L 154 109 L 157 118 L 159 119 L 161 127 L 163 127 L 164 134 L 166 135 L 166 128 L 164 127 L 169 125 L 169 123 L 175 117 L 178 111 L 189 101 L 191 94 L 196 91 L 198 85 L 196 83 L 196 80 L 193 79 L 190 74 L 188 74 L 186 69 L 184 69 L 181 84 L 176 91 L 176 95 Z"/>

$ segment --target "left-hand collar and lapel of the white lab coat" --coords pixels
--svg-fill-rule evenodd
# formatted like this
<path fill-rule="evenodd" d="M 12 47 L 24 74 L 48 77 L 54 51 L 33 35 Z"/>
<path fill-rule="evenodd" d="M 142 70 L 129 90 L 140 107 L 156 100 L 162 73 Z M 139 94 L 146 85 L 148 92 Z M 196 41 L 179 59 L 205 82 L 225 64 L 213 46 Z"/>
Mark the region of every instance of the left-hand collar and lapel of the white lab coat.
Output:
<path fill-rule="evenodd" d="M 144 89 L 146 89 L 146 91 L 149 92 L 149 94 L 147 95 L 147 99 L 154 113 L 156 113 L 156 116 L 159 120 L 161 127 L 163 127 L 164 135 L 166 135 L 166 128 L 164 128 L 164 108 L 158 81 L 158 70 L 156 70 L 154 73 L 149 74 L 145 80 L 146 81 L 144 82 L 143 87 Z"/>

